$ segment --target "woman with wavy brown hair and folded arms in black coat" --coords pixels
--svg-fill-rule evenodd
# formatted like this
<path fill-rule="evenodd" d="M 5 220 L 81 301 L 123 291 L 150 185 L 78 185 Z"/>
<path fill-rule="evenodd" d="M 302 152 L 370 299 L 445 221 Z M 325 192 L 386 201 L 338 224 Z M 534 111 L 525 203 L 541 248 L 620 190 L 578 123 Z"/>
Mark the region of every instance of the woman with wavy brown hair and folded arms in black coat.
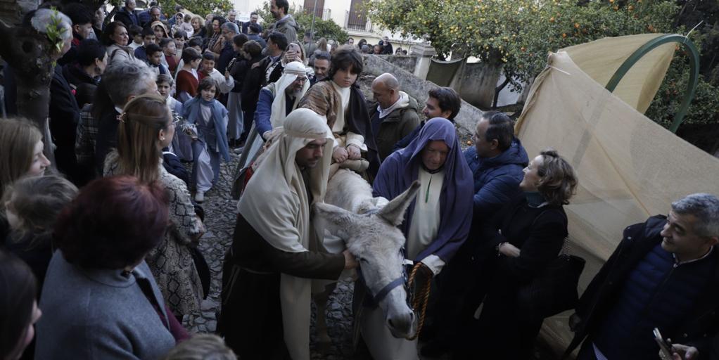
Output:
<path fill-rule="evenodd" d="M 546 149 L 524 169 L 523 195 L 508 203 L 482 231 L 487 246 L 496 249 L 492 277 L 479 321 L 467 336 L 469 353 L 487 359 L 531 359 L 534 339 L 544 318 L 519 311 L 518 290 L 531 283 L 555 259 L 567 237 L 569 203 L 577 177 L 554 149 Z M 465 339 L 468 340 L 468 339 Z M 466 341 L 461 341 L 466 347 Z M 459 344 L 461 345 L 461 344 Z M 456 349 L 456 348 L 455 348 Z"/>

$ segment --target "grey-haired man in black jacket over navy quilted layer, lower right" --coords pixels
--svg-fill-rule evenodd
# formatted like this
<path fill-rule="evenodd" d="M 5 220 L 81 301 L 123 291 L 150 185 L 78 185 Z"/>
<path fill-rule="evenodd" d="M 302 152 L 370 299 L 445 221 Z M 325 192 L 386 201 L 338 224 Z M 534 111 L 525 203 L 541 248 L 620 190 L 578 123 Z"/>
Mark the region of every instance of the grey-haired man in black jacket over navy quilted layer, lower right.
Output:
<path fill-rule="evenodd" d="M 657 359 L 659 328 L 682 359 L 697 359 L 696 349 L 708 358 L 719 330 L 718 241 L 719 198 L 710 194 L 688 195 L 668 217 L 628 226 L 569 320 L 567 351 L 584 340 L 577 359 Z"/>

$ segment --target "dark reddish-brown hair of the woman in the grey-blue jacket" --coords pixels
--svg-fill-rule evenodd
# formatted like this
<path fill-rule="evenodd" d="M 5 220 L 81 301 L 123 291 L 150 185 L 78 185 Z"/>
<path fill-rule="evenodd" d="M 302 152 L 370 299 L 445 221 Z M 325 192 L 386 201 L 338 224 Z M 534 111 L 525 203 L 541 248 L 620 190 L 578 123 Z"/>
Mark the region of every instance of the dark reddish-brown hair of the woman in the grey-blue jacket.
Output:
<path fill-rule="evenodd" d="M 71 264 L 122 269 L 160 244 L 168 213 L 168 195 L 159 183 L 104 177 L 86 185 L 60 213 L 53 238 Z"/>

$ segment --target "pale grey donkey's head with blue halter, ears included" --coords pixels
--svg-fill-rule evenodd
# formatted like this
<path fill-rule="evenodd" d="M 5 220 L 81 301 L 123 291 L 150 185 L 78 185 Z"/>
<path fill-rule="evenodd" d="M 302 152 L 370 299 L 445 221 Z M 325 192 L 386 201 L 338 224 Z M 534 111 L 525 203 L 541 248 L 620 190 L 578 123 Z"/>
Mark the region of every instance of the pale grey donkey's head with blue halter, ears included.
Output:
<path fill-rule="evenodd" d="M 341 237 L 359 260 L 370 296 L 379 303 L 388 328 L 397 338 L 411 336 L 416 329 L 414 313 L 406 302 L 404 282 L 398 281 L 403 279 L 404 257 L 400 249 L 405 237 L 397 226 L 418 189 L 419 183 L 415 181 L 384 207 L 364 214 L 326 203 L 315 205 L 317 215 L 326 220 L 326 229 Z"/>

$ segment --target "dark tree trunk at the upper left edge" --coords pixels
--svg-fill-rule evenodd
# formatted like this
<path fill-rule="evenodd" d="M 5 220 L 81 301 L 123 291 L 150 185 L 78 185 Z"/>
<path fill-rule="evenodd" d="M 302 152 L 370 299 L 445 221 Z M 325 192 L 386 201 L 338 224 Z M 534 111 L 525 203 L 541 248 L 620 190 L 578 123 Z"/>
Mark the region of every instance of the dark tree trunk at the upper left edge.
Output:
<path fill-rule="evenodd" d="M 17 113 L 35 122 L 42 131 L 45 156 L 55 164 L 47 116 L 50 111 L 50 80 L 55 49 L 45 34 L 32 27 L 9 27 L 0 22 L 0 56 L 10 65 L 17 84 Z"/>

